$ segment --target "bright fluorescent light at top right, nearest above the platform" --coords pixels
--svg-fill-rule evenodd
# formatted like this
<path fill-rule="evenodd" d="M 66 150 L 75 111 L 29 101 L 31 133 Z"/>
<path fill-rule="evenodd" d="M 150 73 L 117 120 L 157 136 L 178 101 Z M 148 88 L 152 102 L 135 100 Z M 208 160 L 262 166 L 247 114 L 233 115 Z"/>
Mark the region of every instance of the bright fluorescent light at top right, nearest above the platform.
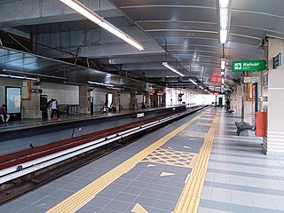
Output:
<path fill-rule="evenodd" d="M 230 0 L 218 0 L 220 43 L 227 43 L 229 21 L 230 21 Z"/>

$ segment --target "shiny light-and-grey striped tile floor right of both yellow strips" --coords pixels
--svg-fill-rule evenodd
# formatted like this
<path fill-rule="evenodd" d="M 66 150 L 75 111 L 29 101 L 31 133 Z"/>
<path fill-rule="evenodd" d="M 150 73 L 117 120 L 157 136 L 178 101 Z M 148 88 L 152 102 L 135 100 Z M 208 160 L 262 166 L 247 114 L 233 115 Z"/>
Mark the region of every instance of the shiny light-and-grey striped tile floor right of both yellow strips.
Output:
<path fill-rule="evenodd" d="M 235 121 L 233 114 L 221 115 L 198 212 L 284 212 L 283 165 L 262 152 L 253 132 L 237 136 Z"/>

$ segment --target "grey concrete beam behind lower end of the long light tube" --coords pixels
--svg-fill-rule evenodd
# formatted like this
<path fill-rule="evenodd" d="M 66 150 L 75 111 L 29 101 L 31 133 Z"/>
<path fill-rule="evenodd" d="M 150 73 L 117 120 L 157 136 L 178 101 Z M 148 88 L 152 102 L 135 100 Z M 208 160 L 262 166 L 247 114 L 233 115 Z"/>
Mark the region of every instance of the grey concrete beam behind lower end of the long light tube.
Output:
<path fill-rule="evenodd" d="M 122 22 L 122 21 L 120 21 Z M 76 30 L 71 32 L 37 34 L 36 41 L 45 45 L 56 47 L 65 51 L 74 52 L 80 48 L 79 56 L 92 59 L 113 58 L 114 56 L 129 56 L 132 54 L 156 54 L 164 53 L 162 47 L 137 26 L 121 27 L 123 31 L 145 47 L 144 51 L 138 51 L 122 39 L 110 34 L 103 28 Z M 43 52 L 47 57 L 58 57 L 54 52 L 37 46 L 36 52 Z"/>

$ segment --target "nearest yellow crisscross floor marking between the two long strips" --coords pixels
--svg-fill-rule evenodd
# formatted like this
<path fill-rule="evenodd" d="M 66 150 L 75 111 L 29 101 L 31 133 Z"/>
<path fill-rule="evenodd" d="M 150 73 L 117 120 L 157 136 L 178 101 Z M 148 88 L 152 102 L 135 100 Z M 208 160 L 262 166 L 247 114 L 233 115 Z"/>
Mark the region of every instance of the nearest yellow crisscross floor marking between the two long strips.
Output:
<path fill-rule="evenodd" d="M 142 162 L 154 162 L 167 164 L 171 166 L 191 168 L 197 154 L 181 152 L 173 149 L 157 148 L 152 154 L 149 154 Z"/>

